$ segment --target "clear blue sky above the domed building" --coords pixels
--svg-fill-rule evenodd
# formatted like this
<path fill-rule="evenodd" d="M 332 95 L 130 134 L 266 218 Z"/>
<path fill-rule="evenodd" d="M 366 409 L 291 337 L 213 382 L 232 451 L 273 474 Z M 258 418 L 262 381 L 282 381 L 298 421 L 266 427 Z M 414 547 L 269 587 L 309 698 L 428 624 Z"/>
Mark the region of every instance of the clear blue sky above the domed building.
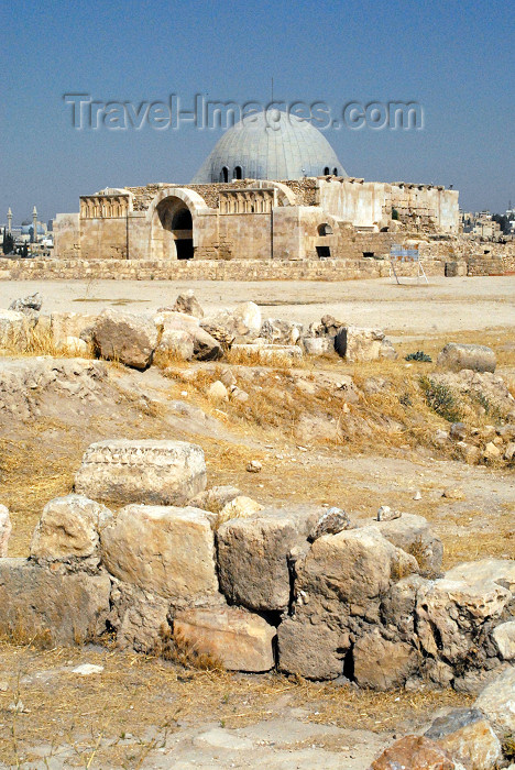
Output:
<path fill-rule="evenodd" d="M 6 6 L 4 6 L 6 8 Z M 63 95 L 165 101 L 196 94 L 417 101 L 421 131 L 326 131 L 347 172 L 453 185 L 465 209 L 515 202 L 515 15 L 504 2 L 50 1 L 2 14 L 0 221 L 43 219 L 106 186 L 188 182 L 220 130 L 73 128 Z"/>

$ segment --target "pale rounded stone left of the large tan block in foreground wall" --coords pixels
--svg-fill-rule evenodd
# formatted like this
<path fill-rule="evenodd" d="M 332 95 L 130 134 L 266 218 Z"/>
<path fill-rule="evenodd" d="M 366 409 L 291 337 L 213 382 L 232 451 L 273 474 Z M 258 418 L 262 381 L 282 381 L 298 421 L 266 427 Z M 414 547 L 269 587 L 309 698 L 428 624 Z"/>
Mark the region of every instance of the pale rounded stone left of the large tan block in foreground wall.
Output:
<path fill-rule="evenodd" d="M 100 530 L 112 513 L 83 495 L 56 497 L 45 505 L 34 530 L 31 557 L 48 561 L 84 559 L 98 553 Z"/>

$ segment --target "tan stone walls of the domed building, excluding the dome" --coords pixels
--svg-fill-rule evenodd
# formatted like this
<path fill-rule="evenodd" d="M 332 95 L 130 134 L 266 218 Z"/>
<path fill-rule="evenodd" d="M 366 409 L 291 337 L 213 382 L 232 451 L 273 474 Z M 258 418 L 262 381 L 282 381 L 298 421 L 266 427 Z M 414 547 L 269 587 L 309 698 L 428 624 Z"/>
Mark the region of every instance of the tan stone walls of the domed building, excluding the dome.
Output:
<path fill-rule="evenodd" d="M 458 193 L 352 177 L 153 184 L 80 197 L 57 215 L 55 256 L 80 260 L 360 258 L 387 249 L 403 224 L 459 232 Z M 371 245 L 360 249 L 360 238 Z M 395 240 L 395 238 L 394 238 Z"/>

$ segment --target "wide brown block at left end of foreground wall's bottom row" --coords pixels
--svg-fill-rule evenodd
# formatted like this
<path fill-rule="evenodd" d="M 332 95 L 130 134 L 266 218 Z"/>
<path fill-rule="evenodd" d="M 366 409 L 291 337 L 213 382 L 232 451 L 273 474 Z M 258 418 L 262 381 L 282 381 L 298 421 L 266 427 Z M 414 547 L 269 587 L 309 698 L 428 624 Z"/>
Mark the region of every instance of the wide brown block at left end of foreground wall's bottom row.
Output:
<path fill-rule="evenodd" d="M 74 645 L 106 628 L 106 574 L 53 573 L 25 559 L 0 560 L 0 632 L 28 641 Z"/>

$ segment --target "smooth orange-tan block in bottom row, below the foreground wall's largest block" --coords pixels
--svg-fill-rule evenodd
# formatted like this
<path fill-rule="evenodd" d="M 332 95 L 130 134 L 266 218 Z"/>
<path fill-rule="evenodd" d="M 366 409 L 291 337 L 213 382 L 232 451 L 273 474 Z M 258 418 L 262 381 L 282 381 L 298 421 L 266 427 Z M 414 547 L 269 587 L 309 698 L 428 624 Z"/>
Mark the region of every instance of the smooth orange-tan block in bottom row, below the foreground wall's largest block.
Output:
<path fill-rule="evenodd" d="M 270 671 L 275 628 L 238 607 L 187 609 L 174 618 L 174 634 L 230 671 Z"/>

